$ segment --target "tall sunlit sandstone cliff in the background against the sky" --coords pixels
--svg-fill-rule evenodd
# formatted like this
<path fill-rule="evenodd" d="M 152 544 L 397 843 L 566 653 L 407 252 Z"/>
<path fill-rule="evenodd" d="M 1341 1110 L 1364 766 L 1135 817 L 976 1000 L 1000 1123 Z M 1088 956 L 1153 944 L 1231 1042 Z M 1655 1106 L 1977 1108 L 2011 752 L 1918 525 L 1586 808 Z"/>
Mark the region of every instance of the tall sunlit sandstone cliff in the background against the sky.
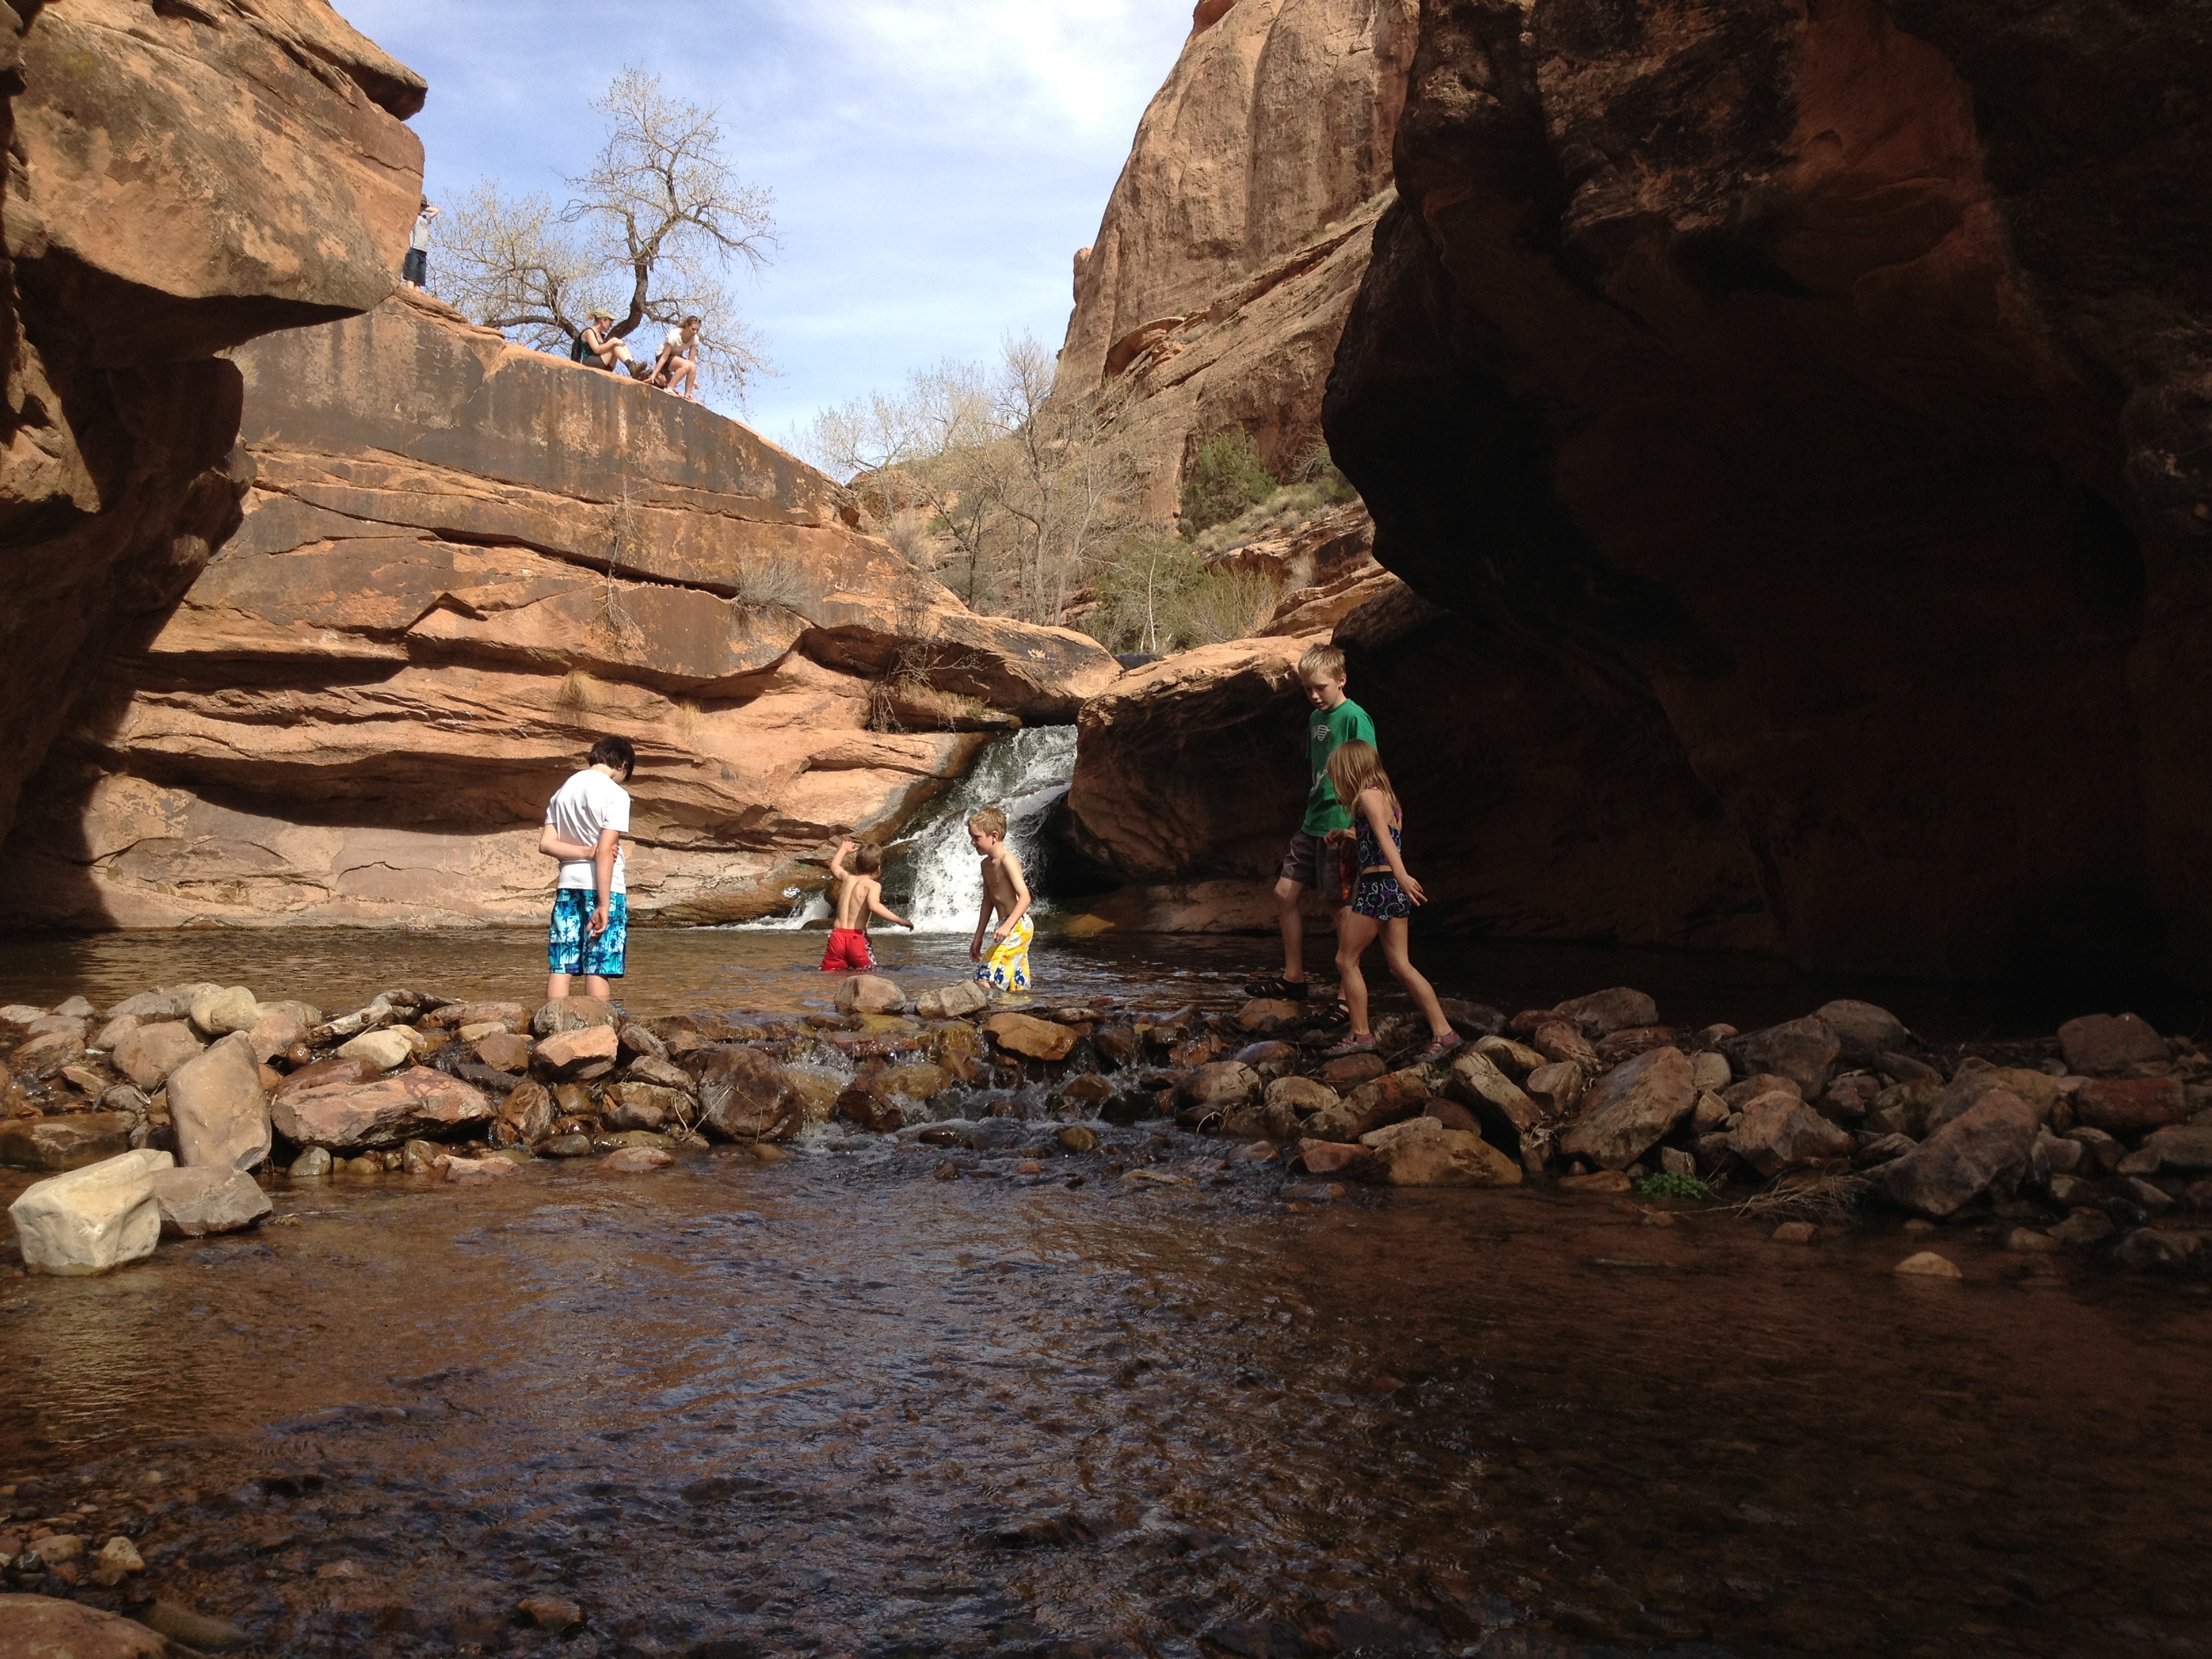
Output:
<path fill-rule="evenodd" d="M 1416 0 L 1203 0 L 1075 257 L 1062 394 L 1113 387 L 1172 518 L 1197 438 L 1279 469 L 1321 396 L 1389 190 Z"/>

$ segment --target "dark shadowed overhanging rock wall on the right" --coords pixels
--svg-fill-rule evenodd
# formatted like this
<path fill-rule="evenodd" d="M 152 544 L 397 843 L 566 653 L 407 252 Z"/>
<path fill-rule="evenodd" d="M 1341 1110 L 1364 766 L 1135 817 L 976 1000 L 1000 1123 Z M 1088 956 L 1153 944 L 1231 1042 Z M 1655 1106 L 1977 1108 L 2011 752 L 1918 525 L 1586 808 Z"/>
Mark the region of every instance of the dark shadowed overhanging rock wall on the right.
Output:
<path fill-rule="evenodd" d="M 1455 617 L 1400 748 L 1604 681 L 1805 962 L 2212 967 L 2208 84 L 2203 7 L 1427 0 L 1327 407 Z"/>

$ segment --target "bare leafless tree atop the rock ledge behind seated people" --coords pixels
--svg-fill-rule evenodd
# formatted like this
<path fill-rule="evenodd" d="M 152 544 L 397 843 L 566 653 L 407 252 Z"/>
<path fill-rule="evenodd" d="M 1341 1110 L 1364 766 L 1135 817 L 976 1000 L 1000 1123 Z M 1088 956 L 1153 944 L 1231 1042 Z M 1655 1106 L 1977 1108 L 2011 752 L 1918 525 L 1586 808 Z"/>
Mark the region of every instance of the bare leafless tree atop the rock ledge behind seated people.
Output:
<path fill-rule="evenodd" d="M 566 352 L 602 305 L 615 336 L 699 316 L 701 374 L 743 398 L 768 365 L 723 279 L 776 246 L 774 197 L 737 179 L 717 111 L 670 97 L 659 75 L 624 69 L 591 108 L 606 117 L 606 142 L 564 181 L 566 204 L 511 197 L 491 179 L 445 204 L 447 299 L 549 352 Z"/>

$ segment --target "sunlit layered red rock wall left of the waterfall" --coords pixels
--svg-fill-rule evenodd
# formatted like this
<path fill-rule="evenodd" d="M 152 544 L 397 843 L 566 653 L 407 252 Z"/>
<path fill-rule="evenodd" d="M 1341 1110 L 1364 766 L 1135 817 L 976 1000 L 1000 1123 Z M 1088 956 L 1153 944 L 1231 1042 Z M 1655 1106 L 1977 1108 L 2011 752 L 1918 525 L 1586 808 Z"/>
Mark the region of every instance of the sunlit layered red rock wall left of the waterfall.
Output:
<path fill-rule="evenodd" d="M 633 914 L 781 914 L 838 834 L 1117 672 L 969 613 L 739 422 L 438 301 L 234 361 L 243 522 L 80 699 L 11 920 L 531 920 L 597 734 L 639 750 Z"/>

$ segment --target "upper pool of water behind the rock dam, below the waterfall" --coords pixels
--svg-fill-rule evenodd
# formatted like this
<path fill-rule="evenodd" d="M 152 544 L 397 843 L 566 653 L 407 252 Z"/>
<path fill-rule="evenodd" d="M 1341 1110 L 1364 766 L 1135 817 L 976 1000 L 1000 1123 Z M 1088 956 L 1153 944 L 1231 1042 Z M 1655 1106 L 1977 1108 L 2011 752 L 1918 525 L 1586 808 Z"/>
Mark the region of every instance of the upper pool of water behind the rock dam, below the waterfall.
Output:
<path fill-rule="evenodd" d="M 821 929 L 635 929 L 624 1004 L 639 1015 L 699 1009 L 827 1009 L 834 980 L 818 971 Z M 878 933 L 885 973 L 920 991 L 967 978 L 967 938 Z M 1551 1006 L 1608 984 L 1635 984 L 1681 1026 L 1725 1020 L 1754 1029 L 1856 995 L 1893 1009 L 1936 1042 L 2048 1035 L 2075 1013 L 2135 1009 L 2168 1033 L 2203 1033 L 2205 1000 L 2159 987 L 1953 987 L 1801 973 L 1756 956 L 1617 951 L 1575 945 L 1420 940 L 1413 960 L 1444 995 L 1506 1013 Z M 1040 998 L 1124 998 L 1146 1006 L 1228 1006 L 1243 984 L 1281 967 L 1272 940 L 1190 933 L 1040 933 L 1031 964 Z M 1378 958 L 1369 982 L 1380 1006 L 1405 1006 Z M 1334 980 L 1327 940 L 1310 971 Z M 533 929 L 170 929 L 139 933 L 0 933 L 0 1002 L 53 1006 L 86 995 L 108 1006 L 157 984 L 217 980 L 259 995 L 354 1009 L 387 987 L 535 1004 L 544 995 L 544 938 Z"/>

